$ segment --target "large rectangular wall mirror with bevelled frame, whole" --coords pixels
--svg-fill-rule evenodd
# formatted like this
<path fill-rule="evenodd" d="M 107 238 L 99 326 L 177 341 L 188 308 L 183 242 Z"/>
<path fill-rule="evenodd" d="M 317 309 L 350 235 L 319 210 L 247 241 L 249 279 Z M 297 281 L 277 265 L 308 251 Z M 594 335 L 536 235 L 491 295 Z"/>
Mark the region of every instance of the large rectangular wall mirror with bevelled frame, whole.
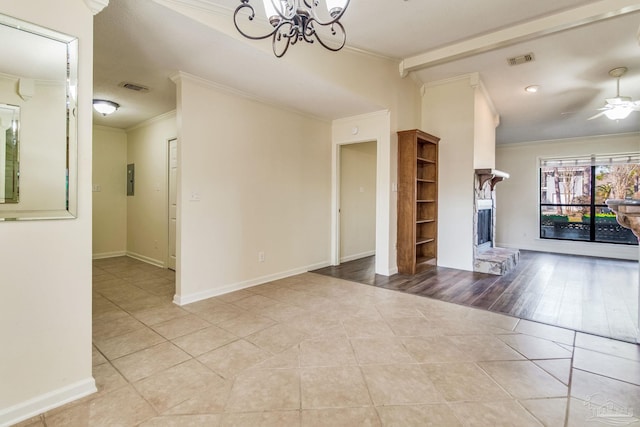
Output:
<path fill-rule="evenodd" d="M 75 37 L 0 14 L 0 221 L 74 218 Z"/>

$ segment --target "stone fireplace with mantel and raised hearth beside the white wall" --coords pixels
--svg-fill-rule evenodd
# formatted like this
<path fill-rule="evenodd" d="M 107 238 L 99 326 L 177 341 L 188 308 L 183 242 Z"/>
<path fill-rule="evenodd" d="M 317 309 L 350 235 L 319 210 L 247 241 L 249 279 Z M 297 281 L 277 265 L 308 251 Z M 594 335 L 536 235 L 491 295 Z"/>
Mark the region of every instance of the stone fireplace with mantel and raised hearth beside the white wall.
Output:
<path fill-rule="evenodd" d="M 476 169 L 473 221 L 473 271 L 503 275 L 518 264 L 520 251 L 495 247 L 495 185 L 509 174 Z"/>

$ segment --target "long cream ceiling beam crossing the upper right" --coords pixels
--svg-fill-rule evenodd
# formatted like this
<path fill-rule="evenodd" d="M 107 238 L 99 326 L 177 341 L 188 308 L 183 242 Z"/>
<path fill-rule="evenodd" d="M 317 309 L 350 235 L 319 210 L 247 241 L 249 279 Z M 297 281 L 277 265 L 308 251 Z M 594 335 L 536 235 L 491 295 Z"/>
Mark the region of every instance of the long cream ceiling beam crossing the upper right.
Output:
<path fill-rule="evenodd" d="M 400 75 L 638 10 L 638 0 L 600 0 L 405 58 Z"/>

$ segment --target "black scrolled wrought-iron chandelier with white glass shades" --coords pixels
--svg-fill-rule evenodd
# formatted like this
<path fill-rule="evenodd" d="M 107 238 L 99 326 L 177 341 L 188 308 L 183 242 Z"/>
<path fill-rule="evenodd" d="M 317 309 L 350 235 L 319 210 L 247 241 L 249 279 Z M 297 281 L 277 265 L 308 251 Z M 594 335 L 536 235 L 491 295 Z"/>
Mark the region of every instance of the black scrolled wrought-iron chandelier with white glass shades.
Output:
<path fill-rule="evenodd" d="M 303 40 L 307 43 L 317 40 L 334 52 L 344 47 L 347 35 L 340 18 L 350 0 L 322 0 L 324 8 L 320 7 L 320 0 L 262 0 L 271 29 L 267 27 L 267 33 L 261 35 L 243 29 L 256 17 L 249 1 L 240 0 L 233 13 L 233 23 L 240 34 L 251 40 L 271 37 L 273 53 L 278 58 L 287 53 L 289 46 Z"/>

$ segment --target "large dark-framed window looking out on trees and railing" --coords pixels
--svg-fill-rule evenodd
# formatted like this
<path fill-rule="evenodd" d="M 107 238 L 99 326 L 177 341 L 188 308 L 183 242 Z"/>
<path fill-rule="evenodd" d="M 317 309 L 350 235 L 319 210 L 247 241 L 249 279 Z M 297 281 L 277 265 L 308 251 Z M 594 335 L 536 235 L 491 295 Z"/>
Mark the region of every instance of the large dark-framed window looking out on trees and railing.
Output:
<path fill-rule="evenodd" d="M 640 153 L 540 160 L 540 237 L 637 245 L 605 200 L 640 191 Z"/>

